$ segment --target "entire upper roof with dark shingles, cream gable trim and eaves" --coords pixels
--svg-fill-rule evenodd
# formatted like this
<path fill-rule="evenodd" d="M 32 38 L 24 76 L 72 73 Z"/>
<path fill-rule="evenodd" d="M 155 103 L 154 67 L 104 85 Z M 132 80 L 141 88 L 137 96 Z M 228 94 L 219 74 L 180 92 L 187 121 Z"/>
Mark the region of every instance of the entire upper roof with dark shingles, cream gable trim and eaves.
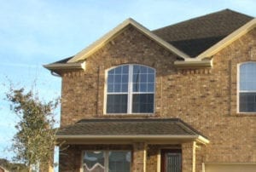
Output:
<path fill-rule="evenodd" d="M 199 68 L 212 67 L 212 55 L 251 31 L 256 26 L 256 19 L 246 14 L 224 9 L 152 32 L 137 21 L 127 19 L 73 57 L 44 67 L 58 74 L 63 70 L 85 69 L 83 60 L 117 37 L 128 26 L 134 26 L 139 32 L 154 40 L 155 43 L 159 43 L 172 53 L 177 54 L 178 57 L 183 58 L 183 60 L 175 61 L 175 66 Z"/>

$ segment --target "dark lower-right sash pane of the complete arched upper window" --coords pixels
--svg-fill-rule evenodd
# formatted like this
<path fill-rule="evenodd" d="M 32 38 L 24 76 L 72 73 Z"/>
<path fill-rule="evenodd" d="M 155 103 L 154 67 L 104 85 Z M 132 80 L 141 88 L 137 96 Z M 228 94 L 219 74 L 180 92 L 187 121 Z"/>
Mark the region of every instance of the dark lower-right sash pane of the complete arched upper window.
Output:
<path fill-rule="evenodd" d="M 154 94 L 132 95 L 132 112 L 154 112 Z"/>

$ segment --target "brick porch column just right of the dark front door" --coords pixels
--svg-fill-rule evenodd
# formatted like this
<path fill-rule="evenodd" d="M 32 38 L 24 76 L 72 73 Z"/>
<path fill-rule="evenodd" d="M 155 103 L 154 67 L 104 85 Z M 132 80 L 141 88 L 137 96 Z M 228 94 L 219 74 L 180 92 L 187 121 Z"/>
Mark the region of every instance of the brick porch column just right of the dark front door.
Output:
<path fill-rule="evenodd" d="M 195 172 L 195 141 L 182 144 L 183 172 Z"/>

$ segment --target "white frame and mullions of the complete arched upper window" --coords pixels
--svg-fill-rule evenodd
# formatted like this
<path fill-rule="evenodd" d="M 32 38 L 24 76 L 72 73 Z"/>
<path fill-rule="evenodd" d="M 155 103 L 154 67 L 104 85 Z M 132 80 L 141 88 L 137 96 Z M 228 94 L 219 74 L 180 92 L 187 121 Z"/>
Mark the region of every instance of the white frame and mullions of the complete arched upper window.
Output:
<path fill-rule="evenodd" d="M 111 93 L 109 95 L 127 95 L 127 112 L 126 113 L 108 113 L 107 112 L 107 97 L 108 97 L 108 72 L 119 66 L 129 66 L 128 73 L 128 93 L 126 92 L 118 92 Z M 114 115 L 122 115 L 122 114 L 154 114 L 155 111 L 155 83 L 156 83 L 156 72 L 153 67 L 145 66 L 141 64 L 123 64 L 119 66 L 113 66 L 105 71 L 105 86 L 104 86 L 104 114 L 114 114 Z M 132 81 L 133 81 L 133 66 L 145 66 L 154 70 L 154 91 L 153 92 L 133 92 Z M 140 95 L 140 94 L 153 94 L 154 103 L 153 103 L 153 112 L 132 112 L 132 95 Z"/>

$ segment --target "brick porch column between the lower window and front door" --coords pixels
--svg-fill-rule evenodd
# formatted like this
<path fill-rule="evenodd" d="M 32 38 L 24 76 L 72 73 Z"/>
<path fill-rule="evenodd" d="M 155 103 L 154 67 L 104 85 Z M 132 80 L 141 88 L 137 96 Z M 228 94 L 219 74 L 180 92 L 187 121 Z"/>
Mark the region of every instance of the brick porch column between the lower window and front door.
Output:
<path fill-rule="evenodd" d="M 147 144 L 145 142 L 133 143 L 133 172 L 146 172 Z"/>

